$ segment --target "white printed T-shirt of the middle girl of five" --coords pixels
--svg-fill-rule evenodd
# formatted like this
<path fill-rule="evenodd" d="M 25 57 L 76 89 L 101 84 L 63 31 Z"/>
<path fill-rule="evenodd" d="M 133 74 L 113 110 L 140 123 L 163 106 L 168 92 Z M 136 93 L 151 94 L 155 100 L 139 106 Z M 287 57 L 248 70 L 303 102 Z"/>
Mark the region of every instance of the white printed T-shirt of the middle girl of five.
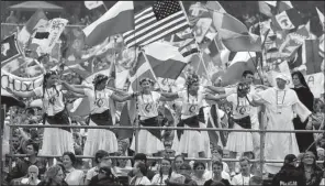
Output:
<path fill-rule="evenodd" d="M 138 101 L 138 114 L 141 120 L 154 118 L 158 116 L 160 94 L 152 91 L 149 95 L 139 95 Z"/>

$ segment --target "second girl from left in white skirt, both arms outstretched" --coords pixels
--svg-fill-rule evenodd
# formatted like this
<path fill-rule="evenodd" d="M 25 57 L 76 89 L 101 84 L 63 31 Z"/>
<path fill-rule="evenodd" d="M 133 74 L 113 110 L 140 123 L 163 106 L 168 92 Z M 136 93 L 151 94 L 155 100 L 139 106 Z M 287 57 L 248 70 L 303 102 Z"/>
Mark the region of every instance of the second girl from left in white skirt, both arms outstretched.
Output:
<path fill-rule="evenodd" d="M 61 81 L 68 90 L 77 94 L 86 95 L 90 103 L 90 121 L 89 125 L 113 125 L 113 119 L 110 112 L 110 98 L 114 101 L 125 101 L 135 95 L 120 97 L 111 90 L 105 89 L 109 77 L 98 74 L 93 79 L 93 86 L 79 88 L 70 86 Z M 83 149 L 83 155 L 93 156 L 97 151 L 104 150 L 109 153 L 115 153 L 119 150 L 115 133 L 110 129 L 89 129 L 88 136 Z"/>

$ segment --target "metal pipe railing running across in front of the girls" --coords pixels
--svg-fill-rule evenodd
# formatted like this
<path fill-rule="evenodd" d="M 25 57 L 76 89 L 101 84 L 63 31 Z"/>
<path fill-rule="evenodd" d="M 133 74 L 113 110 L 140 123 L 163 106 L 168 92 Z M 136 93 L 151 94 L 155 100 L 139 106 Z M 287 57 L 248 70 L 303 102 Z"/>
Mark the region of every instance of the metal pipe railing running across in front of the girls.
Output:
<path fill-rule="evenodd" d="M 5 109 L 5 106 L 4 106 Z M 262 173 L 262 168 L 264 168 L 264 164 L 265 163 L 283 163 L 283 160 L 265 160 L 265 135 L 267 132 L 269 133 L 323 133 L 324 131 L 315 131 L 315 130 L 265 130 L 264 129 L 264 123 L 260 122 L 260 130 L 254 130 L 254 129 L 244 129 L 244 130 L 239 130 L 239 129 L 215 129 L 215 128 L 177 128 L 177 127 L 141 127 L 138 124 L 133 125 L 133 127 L 122 127 L 122 125 L 63 125 L 63 124 L 55 124 L 55 125 L 48 125 L 48 124 L 44 124 L 44 125 L 38 125 L 38 124 L 13 124 L 12 123 L 12 111 L 10 110 L 10 116 L 11 116 L 11 121 L 10 121 L 10 141 L 9 141 L 9 146 L 11 146 L 11 139 L 12 139 L 12 128 L 71 128 L 71 129 L 124 129 L 124 130 L 131 130 L 131 131 L 135 131 L 135 153 L 137 153 L 137 146 L 138 146 L 138 131 L 143 130 L 143 129 L 150 129 L 150 130 L 200 130 L 200 131 L 228 131 L 228 132 L 258 132 L 260 133 L 260 155 L 259 155 L 259 160 L 251 160 L 250 162 L 253 163 L 259 163 L 259 171 L 260 173 Z M 12 150 L 10 147 L 10 152 L 9 155 L 10 157 L 10 162 L 9 164 L 12 164 L 12 158 L 13 157 L 26 157 L 26 154 L 13 154 Z M 52 156 L 42 156 L 38 155 L 38 157 L 61 157 L 58 155 L 52 155 Z M 76 155 L 76 157 L 79 158 L 94 158 L 93 156 L 83 156 L 83 155 Z M 132 156 L 111 156 L 111 158 L 133 158 Z M 161 160 L 162 157 L 148 157 L 149 160 Z M 191 157 L 187 157 L 187 161 L 206 161 L 210 162 L 212 161 L 211 158 L 191 158 Z M 224 162 L 238 162 L 237 158 L 223 158 Z M 317 161 L 317 163 L 323 163 L 323 161 Z M 9 169 L 11 168 L 11 166 L 9 167 Z"/>

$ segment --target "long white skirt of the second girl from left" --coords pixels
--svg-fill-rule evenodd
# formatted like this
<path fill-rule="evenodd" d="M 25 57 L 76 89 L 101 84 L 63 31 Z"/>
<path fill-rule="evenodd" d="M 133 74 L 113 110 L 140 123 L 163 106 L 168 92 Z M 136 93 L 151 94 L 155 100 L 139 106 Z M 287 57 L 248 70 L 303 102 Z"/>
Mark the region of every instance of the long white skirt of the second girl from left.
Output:
<path fill-rule="evenodd" d="M 90 119 L 89 125 L 98 124 Z M 115 133 L 107 129 L 89 129 L 83 155 L 93 156 L 98 150 L 104 150 L 109 153 L 117 152 L 119 144 Z"/>

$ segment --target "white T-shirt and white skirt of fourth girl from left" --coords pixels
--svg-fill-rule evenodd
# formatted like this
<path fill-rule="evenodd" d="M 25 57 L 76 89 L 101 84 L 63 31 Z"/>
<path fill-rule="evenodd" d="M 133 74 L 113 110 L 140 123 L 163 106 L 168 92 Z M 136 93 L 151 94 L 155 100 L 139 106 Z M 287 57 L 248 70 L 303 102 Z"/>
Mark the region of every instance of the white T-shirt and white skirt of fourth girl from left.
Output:
<path fill-rule="evenodd" d="M 178 97 L 182 100 L 181 120 L 194 117 L 199 114 L 202 107 L 203 94 L 198 91 L 198 96 L 188 97 L 188 91 L 179 91 Z M 200 128 L 204 123 L 199 122 Z M 184 124 L 184 128 L 190 128 Z M 198 129 L 200 129 L 198 128 Z M 175 135 L 178 138 L 178 135 Z M 200 132 L 197 130 L 183 130 L 179 139 L 178 145 L 172 145 L 172 150 L 179 153 L 186 153 L 189 157 L 199 157 L 199 152 L 205 152 L 206 145 L 210 146 L 208 132 Z"/>

